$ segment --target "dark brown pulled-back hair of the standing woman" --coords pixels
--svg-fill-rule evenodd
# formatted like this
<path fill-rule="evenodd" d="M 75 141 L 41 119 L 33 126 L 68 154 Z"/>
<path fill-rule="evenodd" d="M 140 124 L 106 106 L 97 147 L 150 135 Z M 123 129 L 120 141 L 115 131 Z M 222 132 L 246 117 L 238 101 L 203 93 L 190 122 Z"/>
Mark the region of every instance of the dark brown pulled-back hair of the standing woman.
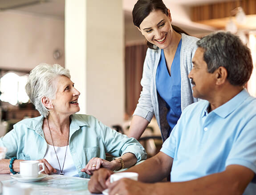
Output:
<path fill-rule="evenodd" d="M 138 0 L 132 11 L 134 25 L 139 28 L 142 21 L 150 14 L 150 12 L 154 10 L 161 10 L 165 15 L 168 16 L 168 8 L 165 6 L 162 0 Z M 179 27 L 174 25 L 171 26 L 176 32 L 187 35 L 187 33 Z M 158 47 L 148 41 L 147 46 L 150 49 L 158 49 Z"/>

